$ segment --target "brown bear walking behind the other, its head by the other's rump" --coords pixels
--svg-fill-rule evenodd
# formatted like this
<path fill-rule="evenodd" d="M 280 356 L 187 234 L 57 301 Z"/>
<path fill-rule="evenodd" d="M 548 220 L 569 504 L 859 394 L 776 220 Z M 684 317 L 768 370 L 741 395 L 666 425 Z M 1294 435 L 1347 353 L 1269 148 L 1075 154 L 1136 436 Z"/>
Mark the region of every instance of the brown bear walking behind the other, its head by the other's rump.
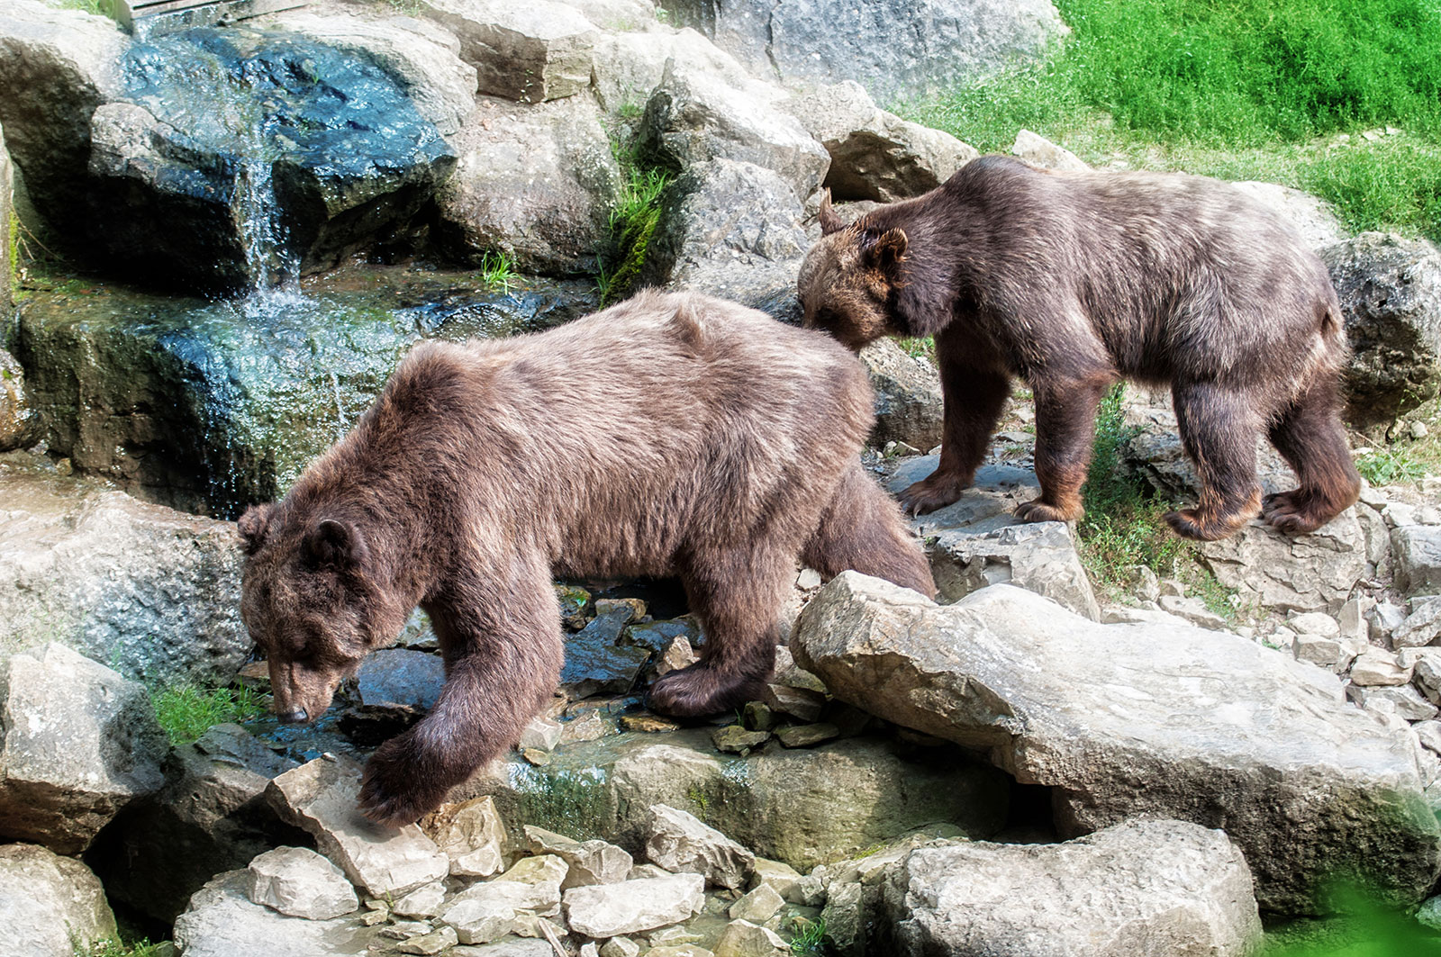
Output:
<path fill-rule="evenodd" d="M 1036 399 L 1040 480 L 1040 497 L 1016 510 L 1023 520 L 1081 517 L 1095 411 L 1121 378 L 1172 386 L 1200 478 L 1196 507 L 1166 515 L 1179 535 L 1226 538 L 1257 512 L 1298 535 L 1356 500 L 1337 415 L 1346 340 L 1326 267 L 1233 186 L 987 156 L 849 226 L 826 195 L 821 232 L 798 280 L 807 326 L 852 349 L 935 336 L 941 461 L 901 493 L 909 512 L 971 483 L 1016 376 Z M 1300 480 L 1264 504 L 1262 429 Z"/>

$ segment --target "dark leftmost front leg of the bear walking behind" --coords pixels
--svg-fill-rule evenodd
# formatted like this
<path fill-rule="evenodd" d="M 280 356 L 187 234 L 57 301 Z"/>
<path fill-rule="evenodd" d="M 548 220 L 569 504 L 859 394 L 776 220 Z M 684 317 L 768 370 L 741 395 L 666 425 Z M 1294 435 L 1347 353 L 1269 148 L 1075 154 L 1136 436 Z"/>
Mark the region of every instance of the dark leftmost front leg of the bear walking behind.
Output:
<path fill-rule="evenodd" d="M 937 333 L 935 363 L 941 370 L 941 396 L 945 401 L 941 461 L 935 471 L 898 496 L 901 509 L 909 515 L 944 509 L 970 487 L 976 470 L 986 460 L 991 432 L 1010 395 L 1010 375 L 1000 366 L 993 349 L 961 323 Z"/>

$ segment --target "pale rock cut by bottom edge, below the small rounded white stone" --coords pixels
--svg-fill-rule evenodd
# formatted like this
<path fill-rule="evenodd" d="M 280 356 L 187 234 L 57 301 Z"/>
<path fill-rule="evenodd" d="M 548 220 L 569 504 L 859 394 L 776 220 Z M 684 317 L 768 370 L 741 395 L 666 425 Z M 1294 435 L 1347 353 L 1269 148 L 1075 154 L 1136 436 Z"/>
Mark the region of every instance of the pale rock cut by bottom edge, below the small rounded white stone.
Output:
<path fill-rule="evenodd" d="M 385 941 L 356 915 L 311 921 L 255 904 L 249 883 L 249 871 L 228 871 L 196 891 L 174 922 L 184 957 L 362 957 Z"/>

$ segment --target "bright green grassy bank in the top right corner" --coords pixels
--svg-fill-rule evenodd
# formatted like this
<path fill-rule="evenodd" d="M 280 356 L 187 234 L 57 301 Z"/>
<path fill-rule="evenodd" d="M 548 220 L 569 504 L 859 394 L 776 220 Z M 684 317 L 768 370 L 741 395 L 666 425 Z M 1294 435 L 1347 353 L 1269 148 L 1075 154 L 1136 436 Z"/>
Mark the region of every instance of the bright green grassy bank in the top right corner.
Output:
<path fill-rule="evenodd" d="M 1042 65 L 901 104 L 1006 151 L 1264 179 L 1346 225 L 1441 239 L 1441 0 L 1058 0 Z"/>

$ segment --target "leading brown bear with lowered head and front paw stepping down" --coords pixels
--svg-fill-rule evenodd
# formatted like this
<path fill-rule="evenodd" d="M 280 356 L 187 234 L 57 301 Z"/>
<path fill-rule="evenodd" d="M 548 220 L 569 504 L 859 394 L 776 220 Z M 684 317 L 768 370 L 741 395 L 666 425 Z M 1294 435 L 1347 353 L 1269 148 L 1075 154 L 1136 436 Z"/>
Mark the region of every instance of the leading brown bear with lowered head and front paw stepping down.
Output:
<path fill-rule="evenodd" d="M 274 709 L 317 718 L 425 608 L 445 686 L 376 749 L 360 794 L 372 819 L 414 822 L 553 693 L 553 575 L 677 575 L 706 640 L 651 706 L 732 709 L 771 673 L 797 559 L 935 592 L 860 464 L 870 427 L 850 353 L 702 295 L 643 293 L 545 333 L 422 343 L 284 500 L 241 516 L 241 611 Z"/>

